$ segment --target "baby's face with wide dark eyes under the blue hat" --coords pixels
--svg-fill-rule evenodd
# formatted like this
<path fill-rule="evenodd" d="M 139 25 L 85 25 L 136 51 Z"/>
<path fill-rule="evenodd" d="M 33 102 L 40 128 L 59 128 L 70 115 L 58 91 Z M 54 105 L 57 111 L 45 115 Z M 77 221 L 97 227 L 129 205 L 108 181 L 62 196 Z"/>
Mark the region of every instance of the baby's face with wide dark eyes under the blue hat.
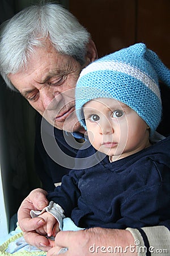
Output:
<path fill-rule="evenodd" d="M 83 108 L 91 144 L 114 160 L 147 147 L 149 127 L 129 106 L 112 98 L 88 101 Z"/>

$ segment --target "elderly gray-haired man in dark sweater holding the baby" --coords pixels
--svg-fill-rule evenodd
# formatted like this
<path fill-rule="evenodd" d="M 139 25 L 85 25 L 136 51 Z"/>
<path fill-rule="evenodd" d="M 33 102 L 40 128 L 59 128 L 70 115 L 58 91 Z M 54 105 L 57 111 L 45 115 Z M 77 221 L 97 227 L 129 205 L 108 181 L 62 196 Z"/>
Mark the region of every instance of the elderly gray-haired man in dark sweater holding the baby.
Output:
<path fill-rule="evenodd" d="M 66 143 L 67 136 L 75 137 L 76 141 L 84 138 L 84 130 L 74 112 L 74 88 L 82 68 L 97 58 L 95 44 L 75 17 L 55 4 L 31 6 L 16 14 L 2 27 L 0 43 L 1 75 L 6 84 L 18 90 L 50 125 L 56 127 L 54 131 L 47 129 L 48 133 L 54 135 L 62 153 L 69 156 L 66 159 L 53 157 L 58 167 L 55 172 L 39 172 L 44 188 L 50 191 L 61 180 L 60 176 L 66 174 L 74 164 L 68 164 L 67 160 L 75 158 L 78 147 Z M 50 125 L 42 126 L 52 127 Z M 40 136 L 40 130 L 37 131 Z M 48 142 L 44 144 L 50 151 Z M 52 154 L 52 151 L 48 153 Z M 44 162 L 46 160 L 49 159 L 44 159 Z M 94 255 L 103 255 L 104 252 L 110 255 L 107 251 L 109 246 L 121 246 L 124 250 L 119 255 L 124 255 L 125 251 L 127 255 L 137 255 L 136 246 L 163 249 L 169 244 L 169 230 L 165 227 L 168 227 L 168 221 L 160 221 L 160 226 L 140 230 L 91 228 L 59 232 L 52 248 L 49 240 L 35 231 L 44 224 L 43 220 L 31 219 L 29 215 L 31 209 L 41 210 L 48 205 L 45 196 L 43 189 L 32 191 L 20 206 L 18 220 L 25 240 L 48 251 L 48 256 L 57 255 L 61 247 L 69 248 L 66 255 L 88 256 L 92 252 Z M 151 253 L 149 250 L 145 254 L 139 251 L 138 255 Z"/>

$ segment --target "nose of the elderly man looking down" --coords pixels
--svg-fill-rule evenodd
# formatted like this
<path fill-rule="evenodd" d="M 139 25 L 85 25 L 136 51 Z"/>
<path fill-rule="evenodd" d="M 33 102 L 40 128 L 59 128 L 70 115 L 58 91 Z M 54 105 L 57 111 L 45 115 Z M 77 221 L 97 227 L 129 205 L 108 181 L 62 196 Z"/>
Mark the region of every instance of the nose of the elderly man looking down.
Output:
<path fill-rule="evenodd" d="M 59 93 L 55 92 L 53 88 L 46 86 L 46 88 L 40 90 L 40 97 L 45 110 L 56 109 Z"/>

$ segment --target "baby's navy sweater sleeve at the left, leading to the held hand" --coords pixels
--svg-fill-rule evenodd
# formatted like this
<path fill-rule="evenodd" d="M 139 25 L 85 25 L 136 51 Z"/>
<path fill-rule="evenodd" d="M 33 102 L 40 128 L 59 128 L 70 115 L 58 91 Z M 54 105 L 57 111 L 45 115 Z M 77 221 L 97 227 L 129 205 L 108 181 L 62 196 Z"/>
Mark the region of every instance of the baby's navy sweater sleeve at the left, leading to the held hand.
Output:
<path fill-rule="evenodd" d="M 48 193 L 47 199 L 59 204 L 65 211 L 66 217 L 70 217 L 71 211 L 77 206 L 80 196 L 78 181 L 82 172 L 70 171 L 68 175 L 63 176 L 61 186 L 58 186 L 54 192 Z"/>

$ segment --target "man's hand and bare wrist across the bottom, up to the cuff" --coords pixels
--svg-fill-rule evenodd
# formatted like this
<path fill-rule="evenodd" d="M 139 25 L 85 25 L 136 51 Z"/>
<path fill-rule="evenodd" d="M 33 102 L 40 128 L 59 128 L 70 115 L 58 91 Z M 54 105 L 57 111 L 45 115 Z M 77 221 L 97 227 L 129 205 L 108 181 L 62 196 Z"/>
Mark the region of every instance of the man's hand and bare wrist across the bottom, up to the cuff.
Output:
<path fill-rule="evenodd" d="M 65 256 L 137 256 L 128 246 L 134 245 L 134 238 L 128 230 L 91 228 L 85 230 L 61 231 L 55 239 L 55 246 L 48 251 L 46 256 L 56 256 L 62 247 L 69 250 Z M 114 252 L 114 247 L 117 251 Z M 120 249 L 118 249 L 118 246 Z M 127 246 L 127 247 L 126 247 Z M 113 248 L 113 252 L 111 250 Z M 122 249 L 121 249 L 122 248 Z M 120 250 L 120 251 L 118 251 Z"/>

